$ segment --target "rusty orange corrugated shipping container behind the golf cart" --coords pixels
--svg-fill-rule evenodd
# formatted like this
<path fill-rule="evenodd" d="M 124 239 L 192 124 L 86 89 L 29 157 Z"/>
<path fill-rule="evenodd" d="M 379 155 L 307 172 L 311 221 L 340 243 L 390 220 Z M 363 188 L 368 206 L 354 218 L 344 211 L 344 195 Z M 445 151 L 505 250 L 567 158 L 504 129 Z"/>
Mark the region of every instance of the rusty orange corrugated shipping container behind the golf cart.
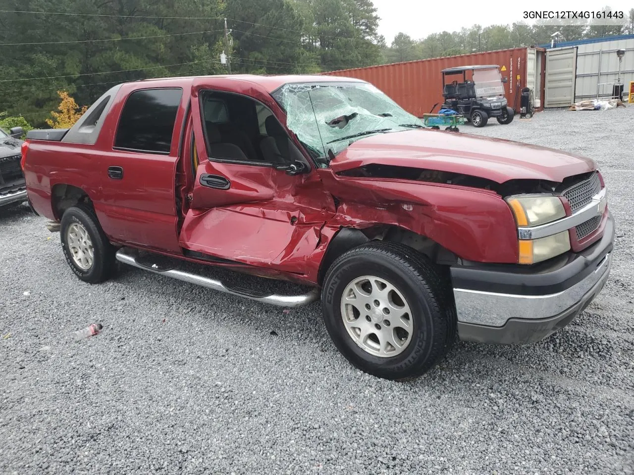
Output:
<path fill-rule="evenodd" d="M 522 88 L 527 84 L 533 89 L 536 110 L 543 108 L 545 54 L 546 50 L 543 48 L 523 47 L 322 74 L 356 77 L 370 82 L 406 111 L 422 117 L 424 113 L 429 113 L 434 105 L 437 104 L 437 111 L 443 103 L 441 70 L 457 66 L 498 65 L 501 75 L 508 78 L 504 85 L 508 105 L 519 112 Z"/>

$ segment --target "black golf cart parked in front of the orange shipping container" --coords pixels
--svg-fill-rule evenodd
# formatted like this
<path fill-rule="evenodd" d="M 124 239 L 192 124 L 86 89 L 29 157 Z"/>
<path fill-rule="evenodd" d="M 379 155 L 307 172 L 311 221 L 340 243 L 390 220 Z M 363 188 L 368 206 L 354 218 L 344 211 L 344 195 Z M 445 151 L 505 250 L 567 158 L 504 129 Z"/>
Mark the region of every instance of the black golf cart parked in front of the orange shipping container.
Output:
<path fill-rule="evenodd" d="M 502 78 L 497 65 L 461 66 L 443 73 L 443 108 L 463 115 L 474 127 L 484 127 L 490 117 L 510 124 L 515 116 L 507 106 Z"/>

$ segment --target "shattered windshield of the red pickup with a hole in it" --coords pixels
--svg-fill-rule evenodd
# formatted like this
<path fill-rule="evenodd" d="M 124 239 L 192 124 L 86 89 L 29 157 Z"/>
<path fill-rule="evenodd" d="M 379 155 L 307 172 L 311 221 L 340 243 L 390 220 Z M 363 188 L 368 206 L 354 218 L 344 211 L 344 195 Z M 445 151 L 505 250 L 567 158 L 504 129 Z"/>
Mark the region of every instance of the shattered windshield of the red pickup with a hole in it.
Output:
<path fill-rule="evenodd" d="M 322 167 L 329 150 L 337 155 L 363 137 L 424 127 L 365 82 L 285 84 L 273 96 L 287 113 L 288 128 Z"/>

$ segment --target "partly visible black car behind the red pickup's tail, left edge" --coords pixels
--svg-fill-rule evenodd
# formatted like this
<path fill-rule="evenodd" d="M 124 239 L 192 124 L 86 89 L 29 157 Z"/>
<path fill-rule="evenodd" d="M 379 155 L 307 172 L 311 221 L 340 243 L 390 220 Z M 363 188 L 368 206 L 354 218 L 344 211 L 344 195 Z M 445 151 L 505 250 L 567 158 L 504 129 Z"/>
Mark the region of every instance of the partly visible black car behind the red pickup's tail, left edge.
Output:
<path fill-rule="evenodd" d="M 10 132 L 0 129 L 0 207 L 27 201 L 27 184 L 20 167 L 23 133 L 22 127 L 13 127 Z"/>

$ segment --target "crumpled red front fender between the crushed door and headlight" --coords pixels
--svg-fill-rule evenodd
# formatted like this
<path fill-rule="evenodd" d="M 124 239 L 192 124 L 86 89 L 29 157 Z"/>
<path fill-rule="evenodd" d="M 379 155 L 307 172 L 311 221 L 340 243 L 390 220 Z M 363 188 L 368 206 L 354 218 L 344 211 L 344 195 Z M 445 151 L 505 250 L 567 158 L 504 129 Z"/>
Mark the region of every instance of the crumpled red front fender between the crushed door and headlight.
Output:
<path fill-rule="evenodd" d="M 401 179 L 339 177 L 318 170 L 340 200 L 328 225 L 363 229 L 389 224 L 440 244 L 465 260 L 517 263 L 515 219 L 498 194 L 465 186 Z"/>

